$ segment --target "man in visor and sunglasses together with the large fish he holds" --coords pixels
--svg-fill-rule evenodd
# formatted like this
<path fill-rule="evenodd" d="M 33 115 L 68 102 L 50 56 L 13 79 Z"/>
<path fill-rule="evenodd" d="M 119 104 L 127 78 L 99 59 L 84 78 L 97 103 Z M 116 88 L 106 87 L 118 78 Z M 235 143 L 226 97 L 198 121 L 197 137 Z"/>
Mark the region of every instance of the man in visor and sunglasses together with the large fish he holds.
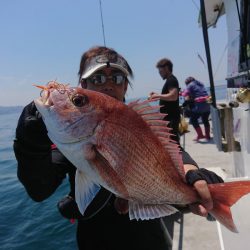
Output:
<path fill-rule="evenodd" d="M 215 190 L 207 183 L 223 180 L 169 139 L 159 107 L 123 103 L 133 72 L 115 50 L 89 49 L 78 75 L 77 88 L 38 86 L 41 98 L 24 108 L 14 141 L 19 180 L 39 202 L 69 175 L 59 209 L 78 220 L 79 249 L 168 249 L 160 217 L 176 212 L 171 204 L 207 216 Z"/>

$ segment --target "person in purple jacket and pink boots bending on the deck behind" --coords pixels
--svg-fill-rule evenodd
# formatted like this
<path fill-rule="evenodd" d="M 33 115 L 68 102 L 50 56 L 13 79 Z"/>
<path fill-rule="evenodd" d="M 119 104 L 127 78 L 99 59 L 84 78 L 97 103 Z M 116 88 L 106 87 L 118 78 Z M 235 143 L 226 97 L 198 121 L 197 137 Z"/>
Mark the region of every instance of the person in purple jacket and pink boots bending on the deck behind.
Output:
<path fill-rule="evenodd" d="M 193 125 L 197 137 L 195 141 L 200 139 L 210 140 L 210 124 L 208 121 L 210 115 L 210 105 L 207 103 L 208 93 L 203 83 L 197 81 L 194 77 L 190 76 L 185 80 L 187 86 L 186 90 L 182 92 L 185 101 L 189 102 L 190 107 L 190 123 Z M 205 135 L 199 125 L 199 118 L 202 119 L 205 129 Z"/>

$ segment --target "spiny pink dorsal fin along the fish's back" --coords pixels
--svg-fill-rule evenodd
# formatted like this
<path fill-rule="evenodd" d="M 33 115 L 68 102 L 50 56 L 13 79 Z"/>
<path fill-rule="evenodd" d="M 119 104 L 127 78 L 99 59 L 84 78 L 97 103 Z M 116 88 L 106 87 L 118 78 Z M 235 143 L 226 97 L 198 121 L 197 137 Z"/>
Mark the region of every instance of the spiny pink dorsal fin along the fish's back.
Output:
<path fill-rule="evenodd" d="M 142 102 L 136 100 L 132 103 L 129 103 L 128 106 L 136 111 L 148 124 L 148 126 L 162 143 L 165 150 L 170 155 L 180 176 L 185 179 L 185 172 L 179 145 L 176 143 L 176 141 L 170 139 L 170 136 L 172 135 L 172 129 L 167 126 L 169 122 L 163 120 L 163 118 L 166 117 L 166 114 L 160 113 L 159 109 L 161 106 L 151 106 L 151 102 L 152 101 L 150 100 L 145 100 Z"/>

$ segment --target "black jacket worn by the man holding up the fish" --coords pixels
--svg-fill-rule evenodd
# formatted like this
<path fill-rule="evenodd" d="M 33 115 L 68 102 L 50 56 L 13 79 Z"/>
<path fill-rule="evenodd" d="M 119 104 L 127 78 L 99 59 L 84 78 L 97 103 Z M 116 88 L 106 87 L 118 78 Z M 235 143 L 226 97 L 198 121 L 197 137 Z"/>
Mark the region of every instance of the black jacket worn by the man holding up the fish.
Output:
<path fill-rule="evenodd" d="M 35 201 L 42 201 L 53 194 L 67 174 L 70 195 L 74 198 L 76 168 L 51 145 L 46 127 L 32 102 L 19 118 L 14 152 L 18 178 Z M 186 152 L 183 152 L 183 160 L 196 165 Z M 166 231 L 160 219 L 130 221 L 128 215 L 117 213 L 113 206 L 114 198 L 102 188 L 85 217 L 80 218 L 77 232 L 80 249 L 131 249 L 131 246 L 133 249 L 167 249 Z"/>

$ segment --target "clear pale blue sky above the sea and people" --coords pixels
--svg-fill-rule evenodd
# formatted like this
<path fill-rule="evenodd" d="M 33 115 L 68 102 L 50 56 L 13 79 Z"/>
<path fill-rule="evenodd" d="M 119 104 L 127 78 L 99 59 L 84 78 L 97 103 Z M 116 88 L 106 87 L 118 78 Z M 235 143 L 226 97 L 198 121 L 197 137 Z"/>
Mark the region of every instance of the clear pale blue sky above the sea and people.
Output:
<path fill-rule="evenodd" d="M 134 71 L 127 98 L 161 91 L 156 62 L 174 63 L 184 88 L 192 75 L 208 86 L 199 0 L 102 0 L 106 45 L 116 49 Z M 0 105 L 25 105 L 39 96 L 32 84 L 57 79 L 77 84 L 80 57 L 103 45 L 99 0 L 0 1 Z M 215 84 L 225 83 L 225 17 L 209 29 Z"/>

